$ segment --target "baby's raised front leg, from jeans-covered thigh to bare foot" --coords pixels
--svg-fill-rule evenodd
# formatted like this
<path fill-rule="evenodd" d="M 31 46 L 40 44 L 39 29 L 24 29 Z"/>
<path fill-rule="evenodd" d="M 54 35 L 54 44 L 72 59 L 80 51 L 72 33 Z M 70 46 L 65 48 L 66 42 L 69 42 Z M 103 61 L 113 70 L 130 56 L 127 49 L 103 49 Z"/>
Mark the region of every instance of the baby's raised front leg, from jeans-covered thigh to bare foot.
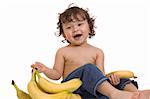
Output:
<path fill-rule="evenodd" d="M 86 64 L 75 70 L 69 74 L 63 82 L 73 78 L 80 78 L 83 82 L 82 86 L 74 92 L 80 94 L 81 97 L 85 97 L 83 99 L 89 99 L 89 97 L 91 97 L 90 99 L 94 99 L 98 96 L 96 93 L 97 91 L 108 96 L 110 99 L 148 99 L 143 97 L 137 98 L 139 95 L 138 92 L 126 92 L 116 89 L 107 81 L 108 78 L 92 64 Z M 146 93 L 150 93 L 150 91 Z M 87 98 L 86 95 L 88 95 Z"/>

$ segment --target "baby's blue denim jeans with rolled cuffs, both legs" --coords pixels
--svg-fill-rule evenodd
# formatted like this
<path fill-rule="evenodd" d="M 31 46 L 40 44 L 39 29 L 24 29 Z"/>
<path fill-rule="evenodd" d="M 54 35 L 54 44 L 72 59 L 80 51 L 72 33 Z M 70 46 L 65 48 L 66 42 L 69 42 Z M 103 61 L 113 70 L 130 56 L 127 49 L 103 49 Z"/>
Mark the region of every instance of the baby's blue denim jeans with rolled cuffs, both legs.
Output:
<path fill-rule="evenodd" d="M 109 99 L 107 96 L 96 91 L 98 85 L 102 84 L 104 81 L 109 82 L 109 79 L 97 68 L 97 66 L 85 64 L 71 72 L 62 82 L 66 82 L 73 78 L 80 78 L 83 83 L 79 89 L 74 91 L 74 93 L 80 94 L 82 99 Z M 131 82 L 133 81 L 129 79 L 121 79 L 120 83 L 114 87 L 123 90 L 124 86 Z"/>

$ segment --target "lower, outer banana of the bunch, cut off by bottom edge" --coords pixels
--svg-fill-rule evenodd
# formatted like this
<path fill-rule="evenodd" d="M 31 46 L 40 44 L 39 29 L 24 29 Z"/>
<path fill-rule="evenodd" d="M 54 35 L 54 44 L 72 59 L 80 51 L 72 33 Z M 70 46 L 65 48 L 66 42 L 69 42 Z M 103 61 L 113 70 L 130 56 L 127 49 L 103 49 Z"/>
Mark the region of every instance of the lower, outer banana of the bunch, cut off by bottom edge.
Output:
<path fill-rule="evenodd" d="M 68 91 L 62 91 L 56 94 L 48 94 L 41 91 L 36 83 L 35 70 L 32 72 L 31 80 L 27 85 L 28 92 L 32 99 L 69 99 L 71 97 L 71 93 Z"/>

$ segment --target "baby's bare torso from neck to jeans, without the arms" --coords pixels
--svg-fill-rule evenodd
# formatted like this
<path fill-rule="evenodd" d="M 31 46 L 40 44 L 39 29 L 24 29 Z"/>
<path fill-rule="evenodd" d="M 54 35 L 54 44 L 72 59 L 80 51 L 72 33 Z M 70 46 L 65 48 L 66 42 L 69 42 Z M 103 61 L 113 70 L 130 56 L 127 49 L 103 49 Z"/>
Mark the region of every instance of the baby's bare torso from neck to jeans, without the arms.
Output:
<path fill-rule="evenodd" d="M 65 47 L 65 66 L 63 72 L 63 78 L 75 69 L 83 66 L 84 64 L 95 64 L 97 57 L 97 48 L 88 45 L 85 47 Z"/>

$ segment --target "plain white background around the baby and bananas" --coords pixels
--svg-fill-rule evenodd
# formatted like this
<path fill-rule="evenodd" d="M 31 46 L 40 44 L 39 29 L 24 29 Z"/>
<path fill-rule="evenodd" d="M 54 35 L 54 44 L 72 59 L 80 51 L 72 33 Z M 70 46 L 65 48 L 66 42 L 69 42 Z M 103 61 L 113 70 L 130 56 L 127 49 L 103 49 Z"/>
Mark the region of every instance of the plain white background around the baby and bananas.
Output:
<path fill-rule="evenodd" d="M 96 18 L 89 40 L 105 53 L 105 70 L 131 70 L 140 89 L 150 89 L 149 0 L 0 0 L 0 98 L 17 99 L 11 85 L 27 92 L 30 65 L 52 67 L 63 44 L 55 33 L 58 13 L 70 3 L 88 8 Z"/>

